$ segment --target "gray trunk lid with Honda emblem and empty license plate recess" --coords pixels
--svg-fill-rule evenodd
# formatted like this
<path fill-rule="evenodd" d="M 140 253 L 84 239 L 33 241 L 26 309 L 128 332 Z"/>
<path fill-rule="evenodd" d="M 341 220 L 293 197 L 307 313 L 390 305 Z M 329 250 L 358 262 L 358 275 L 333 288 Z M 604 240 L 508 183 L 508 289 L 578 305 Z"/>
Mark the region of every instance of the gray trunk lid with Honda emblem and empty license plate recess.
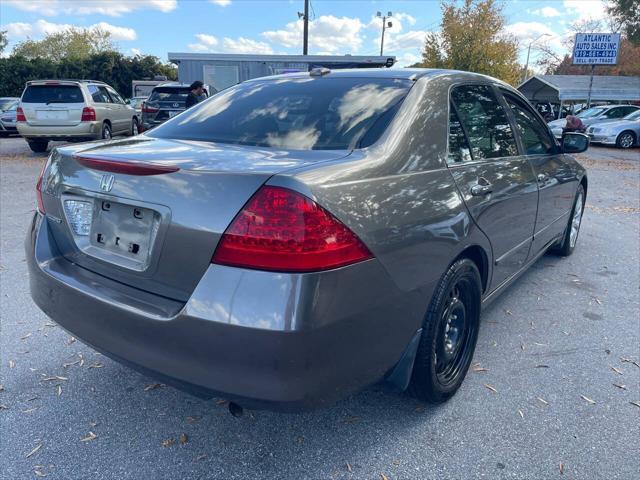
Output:
<path fill-rule="evenodd" d="M 186 301 L 222 233 L 269 177 L 345 155 L 144 136 L 70 146 L 51 157 L 43 203 L 68 260 Z"/>

